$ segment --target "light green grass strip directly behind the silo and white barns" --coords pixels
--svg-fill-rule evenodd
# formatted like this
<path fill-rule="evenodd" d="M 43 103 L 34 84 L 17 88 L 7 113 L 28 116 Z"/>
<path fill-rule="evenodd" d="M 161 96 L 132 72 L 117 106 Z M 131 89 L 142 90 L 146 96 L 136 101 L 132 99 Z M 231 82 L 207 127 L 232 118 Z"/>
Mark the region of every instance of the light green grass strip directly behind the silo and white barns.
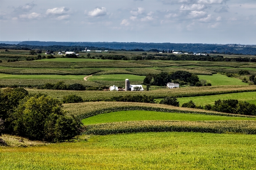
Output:
<path fill-rule="evenodd" d="M 124 81 L 125 79 L 129 79 L 130 81 L 143 81 L 145 76 L 140 75 L 125 75 L 125 74 L 117 74 L 117 75 L 93 75 L 88 77 L 88 80 L 101 80 L 101 81 Z"/>

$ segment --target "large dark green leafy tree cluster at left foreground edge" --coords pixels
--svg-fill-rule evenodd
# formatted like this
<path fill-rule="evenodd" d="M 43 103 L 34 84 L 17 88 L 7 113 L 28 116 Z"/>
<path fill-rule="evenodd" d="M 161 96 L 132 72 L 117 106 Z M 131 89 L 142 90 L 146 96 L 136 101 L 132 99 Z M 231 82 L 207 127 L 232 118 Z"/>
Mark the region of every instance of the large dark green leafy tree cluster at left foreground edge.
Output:
<path fill-rule="evenodd" d="M 31 140 L 69 140 L 81 130 L 81 121 L 65 115 L 61 101 L 44 95 L 28 95 L 23 88 L 0 91 L 0 120 L 0 133 Z"/>

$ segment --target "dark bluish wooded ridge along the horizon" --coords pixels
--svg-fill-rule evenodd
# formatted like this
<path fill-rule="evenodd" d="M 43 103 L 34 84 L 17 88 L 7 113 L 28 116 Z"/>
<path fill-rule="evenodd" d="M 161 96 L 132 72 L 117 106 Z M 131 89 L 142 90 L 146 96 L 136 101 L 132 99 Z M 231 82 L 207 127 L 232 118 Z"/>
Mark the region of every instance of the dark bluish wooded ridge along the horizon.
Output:
<path fill-rule="evenodd" d="M 215 54 L 239 54 L 256 55 L 256 45 L 240 44 L 203 44 L 203 43 L 124 43 L 124 42 L 56 42 L 56 41 L 23 41 L 18 43 L 20 46 L 27 46 L 31 49 L 115 49 L 115 50 L 133 50 L 143 49 L 145 51 L 157 49 L 175 50 L 179 52 L 195 53 L 215 53 Z M 62 46 L 62 47 L 61 47 Z M 67 46 L 67 47 L 64 47 Z M 80 48 L 81 47 L 81 48 Z M 62 50 L 63 51 L 63 50 Z"/>

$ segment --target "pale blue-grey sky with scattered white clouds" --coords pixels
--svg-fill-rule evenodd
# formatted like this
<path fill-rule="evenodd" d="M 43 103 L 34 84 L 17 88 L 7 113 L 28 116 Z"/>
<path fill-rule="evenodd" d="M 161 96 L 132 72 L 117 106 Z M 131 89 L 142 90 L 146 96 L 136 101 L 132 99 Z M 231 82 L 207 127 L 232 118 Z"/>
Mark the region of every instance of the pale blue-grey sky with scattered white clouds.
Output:
<path fill-rule="evenodd" d="M 0 41 L 256 44 L 256 0 L 0 0 Z"/>

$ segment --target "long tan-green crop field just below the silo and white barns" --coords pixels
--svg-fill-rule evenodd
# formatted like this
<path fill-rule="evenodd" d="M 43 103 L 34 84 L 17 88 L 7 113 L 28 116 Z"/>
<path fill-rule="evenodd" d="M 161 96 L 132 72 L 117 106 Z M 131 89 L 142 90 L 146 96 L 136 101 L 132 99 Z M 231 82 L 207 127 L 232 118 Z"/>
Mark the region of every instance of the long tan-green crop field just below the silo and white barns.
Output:
<path fill-rule="evenodd" d="M 19 79 L 21 80 L 21 79 Z M 90 83 L 91 81 L 82 81 Z M 91 82 L 94 83 L 94 82 Z M 113 85 L 113 84 L 112 84 Z M 65 95 L 79 95 L 84 100 L 97 101 L 111 98 L 119 95 L 148 95 L 154 96 L 154 98 L 164 98 L 166 96 L 175 97 L 192 97 L 202 95 L 217 95 L 225 93 L 236 93 L 236 92 L 252 92 L 256 91 L 256 86 L 203 86 L 203 87 L 189 87 L 179 89 L 156 89 L 151 91 L 70 91 L 70 90 L 41 90 L 41 89 L 27 89 L 29 93 L 42 93 L 54 98 L 62 99 Z"/>

